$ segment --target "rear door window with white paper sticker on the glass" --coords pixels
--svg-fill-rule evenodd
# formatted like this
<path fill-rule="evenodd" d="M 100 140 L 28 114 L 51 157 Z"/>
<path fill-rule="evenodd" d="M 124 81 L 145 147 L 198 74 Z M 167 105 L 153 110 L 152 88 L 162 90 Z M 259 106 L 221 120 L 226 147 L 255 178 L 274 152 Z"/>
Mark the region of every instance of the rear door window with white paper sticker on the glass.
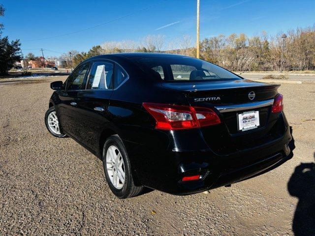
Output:
<path fill-rule="evenodd" d="M 93 63 L 87 89 L 113 89 L 114 64 L 106 61 Z"/>

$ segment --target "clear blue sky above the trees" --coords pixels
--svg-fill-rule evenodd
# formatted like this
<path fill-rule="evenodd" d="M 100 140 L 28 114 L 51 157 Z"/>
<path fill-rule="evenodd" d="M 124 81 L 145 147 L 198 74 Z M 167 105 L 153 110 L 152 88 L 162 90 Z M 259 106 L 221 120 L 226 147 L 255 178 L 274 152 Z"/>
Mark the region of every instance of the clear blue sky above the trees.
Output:
<path fill-rule="evenodd" d="M 104 41 L 165 35 L 165 45 L 195 41 L 196 0 L 1 0 L 2 35 L 20 39 L 23 53 L 59 56 Z M 275 34 L 315 24 L 315 0 L 200 0 L 200 38 L 231 33 Z M 64 35 L 66 34 L 66 35 Z M 63 36 L 61 36 L 63 35 Z M 46 39 L 43 39 L 46 38 Z M 48 51 L 50 50 L 50 51 Z M 54 52 L 53 52 L 54 51 Z"/>

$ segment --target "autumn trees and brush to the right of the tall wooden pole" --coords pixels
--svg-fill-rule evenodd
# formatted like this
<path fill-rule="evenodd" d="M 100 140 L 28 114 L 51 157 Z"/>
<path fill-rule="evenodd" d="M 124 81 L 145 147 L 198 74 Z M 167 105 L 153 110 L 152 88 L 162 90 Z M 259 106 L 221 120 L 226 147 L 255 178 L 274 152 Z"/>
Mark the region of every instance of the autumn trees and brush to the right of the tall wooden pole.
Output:
<path fill-rule="evenodd" d="M 279 71 L 315 69 L 315 25 L 288 30 L 274 36 L 248 37 L 233 33 L 227 37 L 205 38 L 201 42 L 201 57 L 233 71 Z"/>

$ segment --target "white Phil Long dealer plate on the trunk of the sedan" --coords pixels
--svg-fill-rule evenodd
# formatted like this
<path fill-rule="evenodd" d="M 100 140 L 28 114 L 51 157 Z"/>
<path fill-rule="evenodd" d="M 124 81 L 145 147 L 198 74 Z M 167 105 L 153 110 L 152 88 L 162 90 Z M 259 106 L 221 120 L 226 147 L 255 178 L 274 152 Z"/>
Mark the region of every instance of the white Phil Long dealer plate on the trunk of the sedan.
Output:
<path fill-rule="evenodd" d="M 237 114 L 238 130 L 246 131 L 259 126 L 259 111 L 250 111 Z"/>

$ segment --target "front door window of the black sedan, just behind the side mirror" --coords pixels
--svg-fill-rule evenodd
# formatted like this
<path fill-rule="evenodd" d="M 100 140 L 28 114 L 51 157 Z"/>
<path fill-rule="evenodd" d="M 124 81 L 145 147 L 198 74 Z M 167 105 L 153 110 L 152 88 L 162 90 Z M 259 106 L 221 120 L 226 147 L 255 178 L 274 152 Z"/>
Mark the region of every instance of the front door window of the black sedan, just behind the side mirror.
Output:
<path fill-rule="evenodd" d="M 67 90 L 81 90 L 84 89 L 84 78 L 89 69 L 90 63 L 83 64 L 77 67 L 69 76 L 67 82 Z"/>

